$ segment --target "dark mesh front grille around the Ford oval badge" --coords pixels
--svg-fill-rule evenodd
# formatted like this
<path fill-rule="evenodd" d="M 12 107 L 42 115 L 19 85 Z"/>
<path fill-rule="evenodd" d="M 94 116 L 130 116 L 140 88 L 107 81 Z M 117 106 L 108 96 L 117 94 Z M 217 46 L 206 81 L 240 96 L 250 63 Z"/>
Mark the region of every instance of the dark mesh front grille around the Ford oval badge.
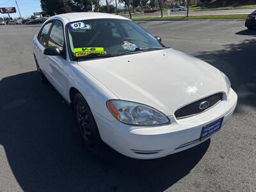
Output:
<path fill-rule="evenodd" d="M 178 109 L 177 111 L 175 111 L 174 115 L 177 119 L 179 119 L 202 113 L 220 102 L 222 97 L 223 93 L 216 93 L 209 97 L 205 97 L 204 99 L 197 100 L 196 102 L 193 102 L 191 104 L 188 104 L 187 106 L 184 106 L 183 108 Z M 207 106 L 207 108 L 205 109 L 200 109 L 199 106 L 204 101 L 209 102 L 209 106 Z"/>

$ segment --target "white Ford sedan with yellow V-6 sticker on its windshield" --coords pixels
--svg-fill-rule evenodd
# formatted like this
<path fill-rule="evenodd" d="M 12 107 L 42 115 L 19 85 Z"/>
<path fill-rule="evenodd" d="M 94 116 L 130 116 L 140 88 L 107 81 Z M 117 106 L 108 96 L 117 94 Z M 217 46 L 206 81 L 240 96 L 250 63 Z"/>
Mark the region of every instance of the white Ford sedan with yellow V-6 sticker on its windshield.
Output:
<path fill-rule="evenodd" d="M 208 140 L 236 108 L 220 70 L 118 15 L 50 17 L 33 52 L 40 79 L 72 106 L 90 147 L 104 141 L 137 159 L 167 156 Z"/>

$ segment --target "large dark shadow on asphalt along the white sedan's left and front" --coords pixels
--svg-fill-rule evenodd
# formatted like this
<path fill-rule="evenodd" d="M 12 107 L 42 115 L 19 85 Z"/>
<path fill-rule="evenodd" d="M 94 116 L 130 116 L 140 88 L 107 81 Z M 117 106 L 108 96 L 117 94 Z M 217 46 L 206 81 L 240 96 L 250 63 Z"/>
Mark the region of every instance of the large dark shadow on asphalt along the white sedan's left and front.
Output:
<path fill-rule="evenodd" d="M 163 191 L 202 159 L 210 140 L 154 160 L 83 144 L 72 110 L 36 72 L 0 81 L 0 145 L 24 191 Z"/>

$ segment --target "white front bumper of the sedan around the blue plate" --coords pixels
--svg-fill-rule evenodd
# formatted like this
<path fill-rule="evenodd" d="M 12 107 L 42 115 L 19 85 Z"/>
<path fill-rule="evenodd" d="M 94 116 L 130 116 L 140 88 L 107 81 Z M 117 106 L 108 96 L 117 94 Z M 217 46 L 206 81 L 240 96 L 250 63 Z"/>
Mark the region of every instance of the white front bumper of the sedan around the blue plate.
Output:
<path fill-rule="evenodd" d="M 102 140 L 110 147 L 128 157 L 154 159 L 186 150 L 207 140 L 208 138 L 199 140 L 202 127 L 224 117 L 223 129 L 236 104 L 237 95 L 231 89 L 227 100 L 204 113 L 180 120 L 169 116 L 171 124 L 149 127 L 132 127 L 117 120 L 109 122 L 99 113 L 92 112 Z"/>

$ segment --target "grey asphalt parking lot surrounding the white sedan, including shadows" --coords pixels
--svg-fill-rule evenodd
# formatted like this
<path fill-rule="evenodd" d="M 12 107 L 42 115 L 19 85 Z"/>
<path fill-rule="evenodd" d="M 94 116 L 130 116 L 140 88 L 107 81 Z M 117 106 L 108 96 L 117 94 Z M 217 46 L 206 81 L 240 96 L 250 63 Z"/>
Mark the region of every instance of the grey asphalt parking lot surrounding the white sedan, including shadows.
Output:
<path fill-rule="evenodd" d="M 211 140 L 154 160 L 83 145 L 72 110 L 40 83 L 38 26 L 0 26 L 0 191 L 256 191 L 256 31 L 242 20 L 140 22 L 219 68 L 239 101 Z"/>

